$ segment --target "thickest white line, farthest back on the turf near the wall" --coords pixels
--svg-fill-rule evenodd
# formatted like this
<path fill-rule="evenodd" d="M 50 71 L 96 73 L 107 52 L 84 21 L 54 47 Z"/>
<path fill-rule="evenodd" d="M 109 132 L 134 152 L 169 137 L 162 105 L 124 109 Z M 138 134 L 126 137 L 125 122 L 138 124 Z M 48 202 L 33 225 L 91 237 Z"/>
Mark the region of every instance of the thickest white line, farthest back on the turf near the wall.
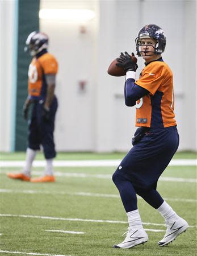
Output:
<path fill-rule="evenodd" d="M 55 160 L 55 167 L 116 167 L 119 166 L 121 159 L 114 160 Z M 0 167 L 23 167 L 24 161 L 0 161 Z M 44 167 L 45 161 L 35 160 L 34 167 Z M 173 159 L 169 166 L 197 166 L 197 159 Z"/>

